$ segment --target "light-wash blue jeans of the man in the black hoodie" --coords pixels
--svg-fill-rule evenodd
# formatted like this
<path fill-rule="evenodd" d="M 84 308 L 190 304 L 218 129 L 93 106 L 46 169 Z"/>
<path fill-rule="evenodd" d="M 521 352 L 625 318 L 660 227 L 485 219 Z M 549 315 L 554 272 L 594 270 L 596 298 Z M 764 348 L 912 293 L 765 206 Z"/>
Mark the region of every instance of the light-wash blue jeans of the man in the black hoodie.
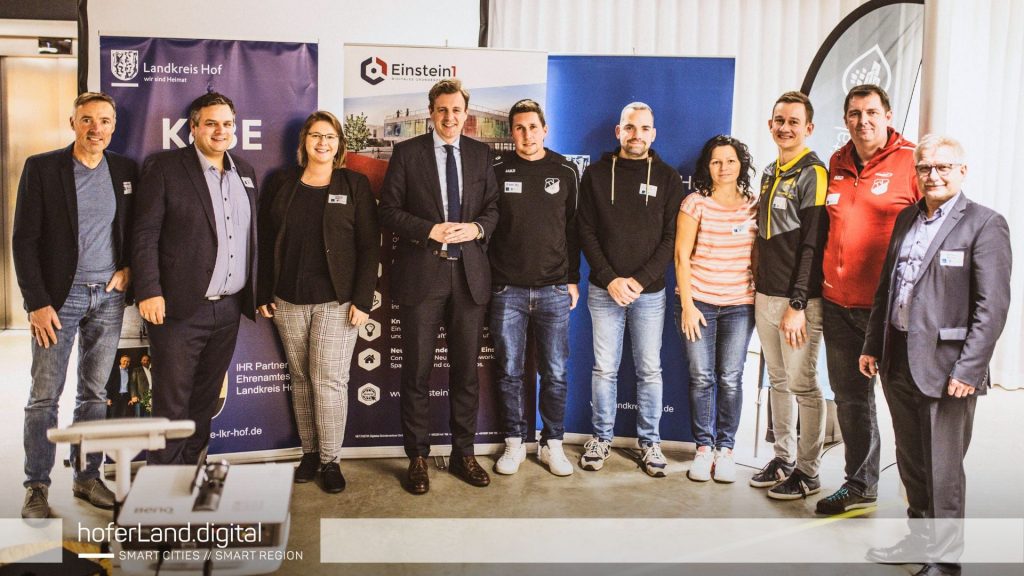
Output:
<path fill-rule="evenodd" d="M 590 285 L 587 296 L 594 325 L 594 371 L 591 378 L 594 436 L 610 442 L 617 409 L 618 364 L 627 324 L 637 371 L 637 438 L 641 447 L 662 442 L 662 332 L 665 290 L 640 294 L 621 306 L 608 291 Z"/>

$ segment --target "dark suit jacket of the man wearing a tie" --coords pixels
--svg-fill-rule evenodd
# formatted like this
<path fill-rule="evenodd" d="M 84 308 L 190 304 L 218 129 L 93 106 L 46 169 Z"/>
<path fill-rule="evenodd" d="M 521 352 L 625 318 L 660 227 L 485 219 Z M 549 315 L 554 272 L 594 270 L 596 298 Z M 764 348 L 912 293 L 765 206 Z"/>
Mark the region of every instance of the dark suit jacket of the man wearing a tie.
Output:
<path fill-rule="evenodd" d="M 483 228 L 483 239 L 462 244 L 462 259 L 473 301 L 490 299 L 490 265 L 486 243 L 498 225 L 498 181 L 490 168 L 490 149 L 461 136 L 462 220 Z M 444 274 L 444 261 L 432 251 L 440 244 L 430 240 L 430 229 L 445 219 L 441 186 L 434 156 L 433 135 L 426 134 L 395 145 L 381 190 L 381 224 L 401 241 L 391 265 L 391 297 L 399 304 L 420 300 L 422 283 Z"/>

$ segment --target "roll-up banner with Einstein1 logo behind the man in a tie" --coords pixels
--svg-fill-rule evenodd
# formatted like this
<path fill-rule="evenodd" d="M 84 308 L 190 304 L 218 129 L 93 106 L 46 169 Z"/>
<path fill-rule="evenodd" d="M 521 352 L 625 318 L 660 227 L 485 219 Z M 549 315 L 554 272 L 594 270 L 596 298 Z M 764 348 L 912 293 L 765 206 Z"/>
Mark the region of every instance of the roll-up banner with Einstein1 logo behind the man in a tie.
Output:
<path fill-rule="evenodd" d="M 348 165 L 368 172 L 379 194 L 380 174 L 394 145 L 433 129 L 427 92 L 445 78 L 459 78 L 470 93 L 463 134 L 496 151 L 510 151 L 509 108 L 527 97 L 543 104 L 546 77 L 547 55 L 543 52 L 346 45 L 343 121 L 352 151 Z M 352 361 L 345 446 L 376 449 L 361 455 L 402 453 L 399 380 L 404 359 L 398 304 L 390 300 L 388 274 L 396 240 L 385 232 L 369 333 L 360 330 Z M 486 328 L 483 334 L 476 443 L 501 444 L 505 435 L 498 418 L 495 349 Z M 442 329 L 430 378 L 430 435 L 435 453 L 443 453 L 451 444 L 447 366 Z M 393 448 L 385 451 L 386 447 Z"/>

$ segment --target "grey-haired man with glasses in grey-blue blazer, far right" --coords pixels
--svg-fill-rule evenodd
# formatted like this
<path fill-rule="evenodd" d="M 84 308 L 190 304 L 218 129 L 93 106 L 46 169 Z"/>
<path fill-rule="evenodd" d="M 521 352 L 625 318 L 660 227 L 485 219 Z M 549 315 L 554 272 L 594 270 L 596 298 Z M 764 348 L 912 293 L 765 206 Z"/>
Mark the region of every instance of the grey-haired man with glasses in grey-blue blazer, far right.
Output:
<path fill-rule="evenodd" d="M 896 218 L 860 357 L 865 376 L 882 376 L 911 532 L 867 558 L 958 575 L 964 457 L 1010 307 L 1010 230 L 961 192 L 959 142 L 929 134 L 914 161 L 925 197 Z"/>

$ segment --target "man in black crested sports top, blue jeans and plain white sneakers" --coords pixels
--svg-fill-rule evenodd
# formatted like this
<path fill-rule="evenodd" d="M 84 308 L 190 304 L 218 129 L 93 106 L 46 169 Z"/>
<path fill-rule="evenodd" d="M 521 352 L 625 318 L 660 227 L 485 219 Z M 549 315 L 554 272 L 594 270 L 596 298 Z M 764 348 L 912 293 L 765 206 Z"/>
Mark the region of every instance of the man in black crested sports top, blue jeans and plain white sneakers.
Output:
<path fill-rule="evenodd" d="M 498 229 L 490 240 L 490 334 L 498 376 L 505 453 L 495 470 L 515 474 L 526 459 L 523 361 L 534 325 L 542 462 L 555 476 L 572 474 L 562 450 L 569 358 L 569 311 L 580 297 L 580 243 L 575 234 L 575 165 L 544 148 L 548 126 L 541 106 L 519 100 L 509 110 L 515 152 L 495 159 Z"/>

